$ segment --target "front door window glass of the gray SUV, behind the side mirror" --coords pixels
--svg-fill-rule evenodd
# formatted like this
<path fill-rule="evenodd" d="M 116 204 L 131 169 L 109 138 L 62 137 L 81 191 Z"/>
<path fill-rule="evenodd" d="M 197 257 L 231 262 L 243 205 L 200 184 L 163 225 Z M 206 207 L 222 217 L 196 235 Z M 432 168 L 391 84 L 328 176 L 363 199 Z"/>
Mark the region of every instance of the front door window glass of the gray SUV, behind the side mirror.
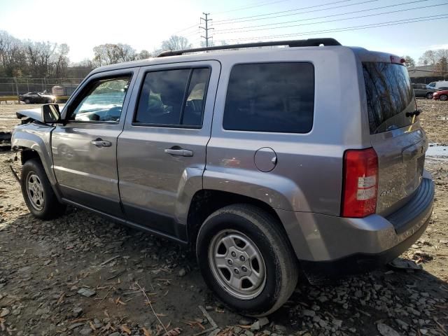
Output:
<path fill-rule="evenodd" d="M 127 75 L 94 81 L 69 120 L 118 123 L 130 80 Z"/>

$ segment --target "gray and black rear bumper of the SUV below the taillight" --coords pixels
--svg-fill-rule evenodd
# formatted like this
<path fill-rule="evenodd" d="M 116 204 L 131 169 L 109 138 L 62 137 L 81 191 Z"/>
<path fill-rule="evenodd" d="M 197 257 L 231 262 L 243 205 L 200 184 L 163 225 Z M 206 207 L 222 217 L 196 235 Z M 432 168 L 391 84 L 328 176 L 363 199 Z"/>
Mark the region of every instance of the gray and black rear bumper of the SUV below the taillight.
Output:
<path fill-rule="evenodd" d="M 386 218 L 277 211 L 305 272 L 363 272 L 406 251 L 423 234 L 433 211 L 434 183 L 426 177 L 412 200 Z"/>

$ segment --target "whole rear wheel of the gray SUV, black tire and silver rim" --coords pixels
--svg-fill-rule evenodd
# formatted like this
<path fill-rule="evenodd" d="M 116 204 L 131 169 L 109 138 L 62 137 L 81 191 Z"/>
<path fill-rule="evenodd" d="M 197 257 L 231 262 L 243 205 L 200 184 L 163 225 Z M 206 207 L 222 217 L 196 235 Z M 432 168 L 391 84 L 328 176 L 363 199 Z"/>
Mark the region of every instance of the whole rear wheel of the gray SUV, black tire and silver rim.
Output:
<path fill-rule="evenodd" d="M 271 314 L 297 284 L 297 259 L 281 223 L 258 207 L 215 211 L 200 228 L 196 253 L 209 288 L 241 314 Z"/>

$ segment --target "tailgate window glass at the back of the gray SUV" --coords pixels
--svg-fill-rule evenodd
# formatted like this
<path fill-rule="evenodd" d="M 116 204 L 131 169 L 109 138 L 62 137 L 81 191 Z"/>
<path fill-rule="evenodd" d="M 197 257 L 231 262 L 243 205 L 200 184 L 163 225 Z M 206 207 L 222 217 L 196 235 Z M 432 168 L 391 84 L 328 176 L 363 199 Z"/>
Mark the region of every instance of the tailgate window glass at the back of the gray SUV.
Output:
<path fill-rule="evenodd" d="M 407 112 L 415 110 L 414 93 L 405 66 L 364 62 L 363 72 L 370 134 L 411 125 Z"/>

